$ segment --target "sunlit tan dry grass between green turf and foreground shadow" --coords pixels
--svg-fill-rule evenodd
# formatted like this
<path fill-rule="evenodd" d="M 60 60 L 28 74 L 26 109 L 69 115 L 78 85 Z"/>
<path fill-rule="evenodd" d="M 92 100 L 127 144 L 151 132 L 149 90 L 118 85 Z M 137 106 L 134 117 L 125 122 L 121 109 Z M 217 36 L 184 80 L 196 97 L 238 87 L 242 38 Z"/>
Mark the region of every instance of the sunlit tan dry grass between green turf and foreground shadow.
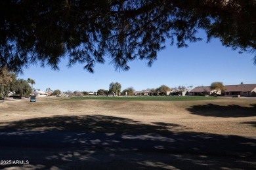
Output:
<path fill-rule="evenodd" d="M 162 124 L 172 131 L 256 136 L 256 100 L 251 98 L 169 102 L 68 101 L 47 97 L 37 99 L 36 103 L 30 103 L 28 99 L 0 103 L 0 109 L 0 126 L 40 117 L 104 115 L 143 124 Z"/>

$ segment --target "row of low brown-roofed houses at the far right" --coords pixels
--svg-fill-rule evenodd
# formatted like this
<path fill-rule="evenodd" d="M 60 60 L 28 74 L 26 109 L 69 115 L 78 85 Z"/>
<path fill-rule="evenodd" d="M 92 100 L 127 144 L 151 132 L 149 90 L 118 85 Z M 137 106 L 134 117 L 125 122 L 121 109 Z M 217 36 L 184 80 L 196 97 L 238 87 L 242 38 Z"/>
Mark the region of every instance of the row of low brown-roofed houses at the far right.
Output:
<path fill-rule="evenodd" d="M 226 85 L 224 91 L 211 90 L 209 86 L 196 87 L 190 90 L 189 95 L 241 95 L 256 97 L 256 84 Z"/>

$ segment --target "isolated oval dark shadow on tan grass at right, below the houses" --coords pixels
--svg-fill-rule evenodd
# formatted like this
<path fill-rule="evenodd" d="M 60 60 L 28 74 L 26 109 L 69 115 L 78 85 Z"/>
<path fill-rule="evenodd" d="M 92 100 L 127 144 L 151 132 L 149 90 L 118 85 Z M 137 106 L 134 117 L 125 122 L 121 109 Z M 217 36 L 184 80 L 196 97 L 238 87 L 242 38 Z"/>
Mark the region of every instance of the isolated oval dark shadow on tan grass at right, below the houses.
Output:
<path fill-rule="evenodd" d="M 256 105 L 251 107 L 242 107 L 239 105 L 194 105 L 187 109 L 192 114 L 200 116 L 213 116 L 223 118 L 238 118 L 238 117 L 251 117 L 256 116 Z"/>

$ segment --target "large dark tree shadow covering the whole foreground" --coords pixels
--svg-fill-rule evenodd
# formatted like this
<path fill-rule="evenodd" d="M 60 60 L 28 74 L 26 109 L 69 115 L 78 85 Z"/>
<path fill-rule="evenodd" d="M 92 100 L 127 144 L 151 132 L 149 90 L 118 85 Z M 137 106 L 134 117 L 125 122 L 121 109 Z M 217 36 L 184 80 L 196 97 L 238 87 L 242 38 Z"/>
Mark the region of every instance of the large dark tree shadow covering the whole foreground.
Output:
<path fill-rule="evenodd" d="M 172 130 L 173 128 L 173 130 Z M 0 124 L 1 160 L 15 169 L 255 169 L 256 139 L 177 132 L 114 116 L 53 116 Z"/>

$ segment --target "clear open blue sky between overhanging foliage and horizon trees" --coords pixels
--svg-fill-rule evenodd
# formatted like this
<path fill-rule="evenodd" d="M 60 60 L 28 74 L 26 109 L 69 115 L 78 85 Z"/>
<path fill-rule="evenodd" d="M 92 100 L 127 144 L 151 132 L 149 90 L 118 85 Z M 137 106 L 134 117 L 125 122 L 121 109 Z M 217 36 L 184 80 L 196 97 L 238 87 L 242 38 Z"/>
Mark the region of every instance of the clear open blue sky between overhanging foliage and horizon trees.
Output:
<path fill-rule="evenodd" d="M 229 84 L 256 83 L 256 66 L 253 65 L 253 55 L 238 54 L 222 46 L 219 39 L 206 43 L 203 32 L 199 34 L 203 41 L 189 43 L 188 48 L 169 46 L 158 53 L 158 60 L 152 67 L 146 61 L 137 59 L 129 63 L 129 71 L 115 71 L 110 59 L 105 64 L 96 64 L 95 73 L 83 70 L 83 65 L 66 67 L 67 59 L 60 62 L 60 71 L 50 67 L 41 68 L 32 65 L 24 69 L 19 78 L 35 80 L 33 88 L 45 91 L 61 90 L 96 92 L 100 88 L 108 90 L 111 82 L 119 82 L 122 90 L 133 87 L 135 90 L 158 88 L 162 84 L 175 88 L 177 86 L 209 86 L 211 82 L 219 81 Z M 168 42 L 168 41 L 167 41 Z"/>

